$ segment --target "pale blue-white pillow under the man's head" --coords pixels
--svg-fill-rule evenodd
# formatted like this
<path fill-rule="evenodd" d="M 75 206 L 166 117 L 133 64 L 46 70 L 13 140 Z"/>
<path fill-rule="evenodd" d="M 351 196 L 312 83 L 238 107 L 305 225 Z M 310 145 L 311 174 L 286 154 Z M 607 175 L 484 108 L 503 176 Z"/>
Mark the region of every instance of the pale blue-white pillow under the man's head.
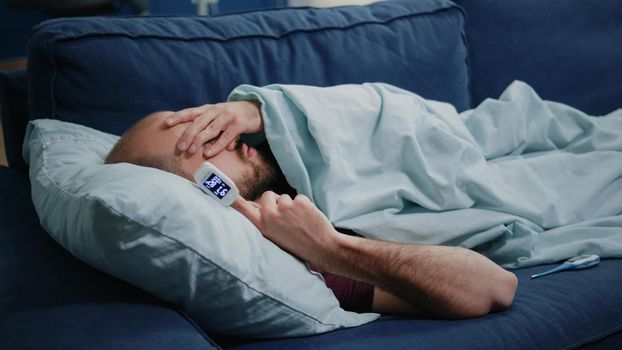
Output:
<path fill-rule="evenodd" d="M 339 308 L 319 274 L 186 179 L 104 165 L 117 139 L 57 120 L 28 125 L 35 208 L 73 255 L 179 305 L 208 332 L 303 336 L 378 317 Z"/>

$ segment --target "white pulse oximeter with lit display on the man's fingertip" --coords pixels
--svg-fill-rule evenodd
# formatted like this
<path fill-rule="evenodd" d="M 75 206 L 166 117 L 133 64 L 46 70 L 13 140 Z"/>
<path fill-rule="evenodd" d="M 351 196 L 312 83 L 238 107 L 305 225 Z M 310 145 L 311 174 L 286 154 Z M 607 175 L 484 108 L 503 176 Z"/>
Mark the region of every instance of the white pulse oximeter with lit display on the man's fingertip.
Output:
<path fill-rule="evenodd" d="M 194 181 L 203 192 L 226 207 L 230 206 L 240 194 L 235 183 L 210 162 L 204 162 L 194 172 Z"/>

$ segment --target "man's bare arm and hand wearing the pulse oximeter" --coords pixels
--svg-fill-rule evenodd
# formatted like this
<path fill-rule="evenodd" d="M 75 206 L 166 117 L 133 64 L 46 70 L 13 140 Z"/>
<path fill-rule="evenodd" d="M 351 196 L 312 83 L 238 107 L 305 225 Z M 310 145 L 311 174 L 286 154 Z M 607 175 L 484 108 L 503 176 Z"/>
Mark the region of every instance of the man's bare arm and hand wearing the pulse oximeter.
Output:
<path fill-rule="evenodd" d="M 514 299 L 514 274 L 467 249 L 343 235 L 300 195 L 266 192 L 257 203 L 242 199 L 234 207 L 290 253 L 323 271 L 379 287 L 376 309 L 411 305 L 409 313 L 467 318 L 503 310 Z"/>

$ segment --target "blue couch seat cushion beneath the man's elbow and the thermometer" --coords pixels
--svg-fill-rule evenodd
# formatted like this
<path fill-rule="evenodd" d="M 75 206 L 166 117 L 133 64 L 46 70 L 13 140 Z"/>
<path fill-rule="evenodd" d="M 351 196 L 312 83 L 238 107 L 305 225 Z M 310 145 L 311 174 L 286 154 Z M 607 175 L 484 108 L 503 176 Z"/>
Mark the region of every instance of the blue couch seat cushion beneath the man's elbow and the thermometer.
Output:
<path fill-rule="evenodd" d="M 620 349 L 622 259 L 605 259 L 587 270 L 538 279 L 553 265 L 514 271 L 519 279 L 507 311 L 446 321 L 385 317 L 361 327 L 313 338 L 262 343 L 215 340 L 227 349 Z M 599 344 L 603 344 L 599 346 Z M 592 347 L 589 347 L 590 349 Z"/>

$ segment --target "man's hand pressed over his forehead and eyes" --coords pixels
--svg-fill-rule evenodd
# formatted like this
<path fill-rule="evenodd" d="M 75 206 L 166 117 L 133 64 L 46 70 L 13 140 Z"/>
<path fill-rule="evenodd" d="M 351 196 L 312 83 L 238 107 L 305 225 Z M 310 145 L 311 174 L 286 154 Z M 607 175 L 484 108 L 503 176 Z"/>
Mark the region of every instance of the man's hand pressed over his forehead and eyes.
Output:
<path fill-rule="evenodd" d="M 206 104 L 177 111 L 166 118 L 168 127 L 190 122 L 177 142 L 182 152 L 194 154 L 202 149 L 213 157 L 223 149 L 232 151 L 241 134 L 263 130 L 261 108 L 257 101 Z"/>

